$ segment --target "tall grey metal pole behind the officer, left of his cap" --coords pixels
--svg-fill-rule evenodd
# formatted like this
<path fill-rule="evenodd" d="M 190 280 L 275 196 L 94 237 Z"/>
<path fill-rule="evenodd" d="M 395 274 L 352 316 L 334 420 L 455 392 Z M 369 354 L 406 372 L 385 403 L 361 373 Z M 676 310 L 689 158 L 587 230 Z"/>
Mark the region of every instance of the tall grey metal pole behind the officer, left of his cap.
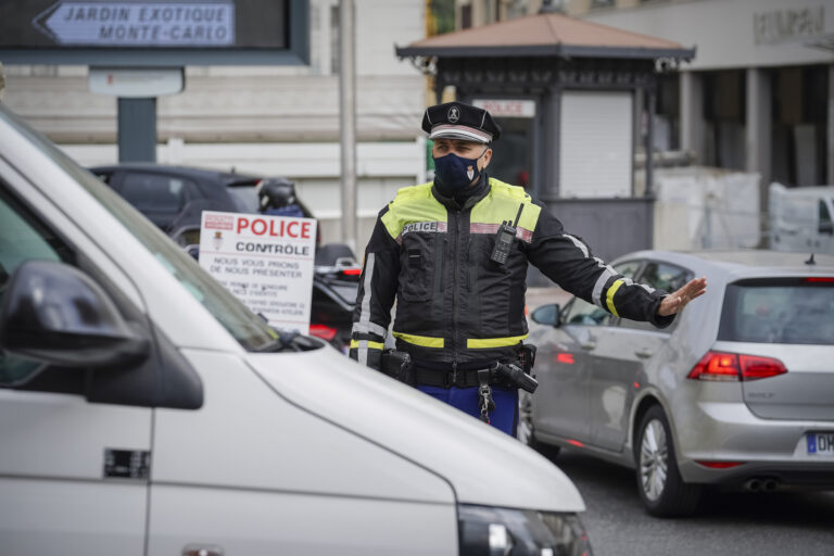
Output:
<path fill-rule="evenodd" d="M 356 252 L 356 71 L 353 0 L 339 10 L 340 141 L 342 156 L 342 241 Z"/>

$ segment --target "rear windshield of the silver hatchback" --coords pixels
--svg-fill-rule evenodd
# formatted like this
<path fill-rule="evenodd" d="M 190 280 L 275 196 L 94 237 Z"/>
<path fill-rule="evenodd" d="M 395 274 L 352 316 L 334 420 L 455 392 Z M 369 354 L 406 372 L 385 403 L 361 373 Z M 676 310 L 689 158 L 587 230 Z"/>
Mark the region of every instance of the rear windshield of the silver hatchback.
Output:
<path fill-rule="evenodd" d="M 726 287 L 719 340 L 834 345 L 834 278 L 743 280 Z"/>

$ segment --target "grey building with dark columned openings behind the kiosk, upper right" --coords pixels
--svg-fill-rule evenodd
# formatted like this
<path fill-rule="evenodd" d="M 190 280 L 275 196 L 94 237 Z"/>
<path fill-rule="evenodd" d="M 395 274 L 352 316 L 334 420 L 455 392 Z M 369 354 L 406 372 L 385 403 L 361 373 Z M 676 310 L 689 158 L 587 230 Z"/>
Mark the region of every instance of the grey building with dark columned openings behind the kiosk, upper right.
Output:
<path fill-rule="evenodd" d="M 542 0 L 457 0 L 458 27 Z M 834 0 L 553 0 L 567 14 L 695 48 L 660 78 L 653 146 L 771 181 L 834 184 Z"/>

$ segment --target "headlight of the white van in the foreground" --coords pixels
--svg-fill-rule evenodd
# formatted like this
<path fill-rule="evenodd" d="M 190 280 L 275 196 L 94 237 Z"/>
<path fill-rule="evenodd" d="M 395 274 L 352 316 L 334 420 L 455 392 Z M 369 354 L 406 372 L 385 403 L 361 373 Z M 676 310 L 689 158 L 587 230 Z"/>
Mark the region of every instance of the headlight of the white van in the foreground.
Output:
<path fill-rule="evenodd" d="M 457 506 L 462 556 L 592 556 L 576 514 Z"/>

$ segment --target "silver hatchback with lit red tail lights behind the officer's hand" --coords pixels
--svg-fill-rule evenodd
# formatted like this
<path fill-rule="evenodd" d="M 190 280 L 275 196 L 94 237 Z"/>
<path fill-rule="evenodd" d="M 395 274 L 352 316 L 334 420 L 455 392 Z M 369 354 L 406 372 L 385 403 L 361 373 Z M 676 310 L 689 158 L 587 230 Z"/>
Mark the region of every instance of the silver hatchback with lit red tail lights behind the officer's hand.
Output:
<path fill-rule="evenodd" d="M 834 257 L 642 251 L 611 266 L 704 296 L 666 329 L 572 299 L 531 314 L 539 389 L 522 425 L 636 470 L 649 514 L 688 515 L 704 488 L 834 488 Z"/>

